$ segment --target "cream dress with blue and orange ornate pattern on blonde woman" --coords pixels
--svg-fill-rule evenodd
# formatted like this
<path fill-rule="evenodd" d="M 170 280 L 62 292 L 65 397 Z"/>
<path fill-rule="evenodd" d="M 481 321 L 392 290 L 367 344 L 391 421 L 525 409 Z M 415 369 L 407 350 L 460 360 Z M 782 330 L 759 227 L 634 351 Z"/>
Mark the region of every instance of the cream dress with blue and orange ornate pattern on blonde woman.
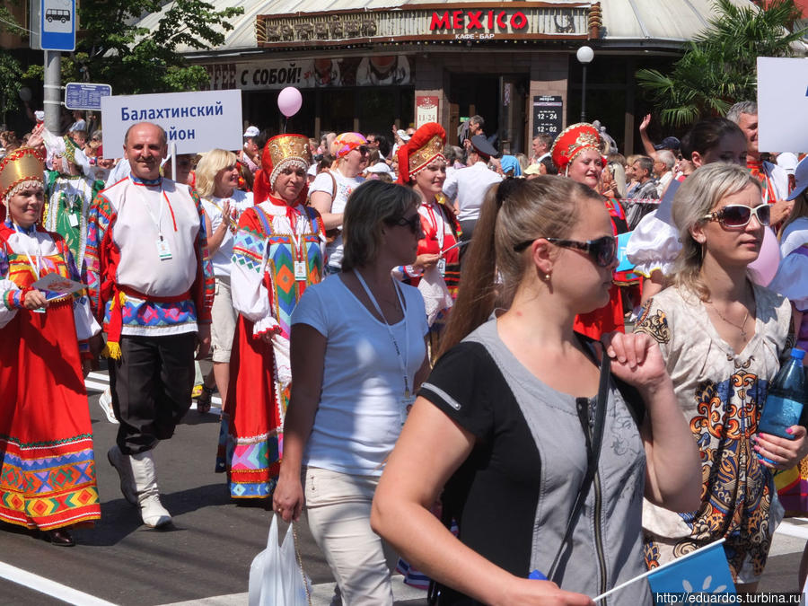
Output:
<path fill-rule="evenodd" d="M 766 565 L 782 518 L 771 470 L 751 443 L 768 382 L 790 347 L 788 301 L 754 285 L 755 334 L 740 353 L 721 338 L 695 294 L 672 287 L 646 303 L 636 330 L 662 349 L 676 399 L 701 454 L 701 506 L 677 514 L 647 502 L 643 508 L 646 564 L 660 566 L 714 540 L 726 539 L 726 558 L 738 583 L 753 583 Z"/>

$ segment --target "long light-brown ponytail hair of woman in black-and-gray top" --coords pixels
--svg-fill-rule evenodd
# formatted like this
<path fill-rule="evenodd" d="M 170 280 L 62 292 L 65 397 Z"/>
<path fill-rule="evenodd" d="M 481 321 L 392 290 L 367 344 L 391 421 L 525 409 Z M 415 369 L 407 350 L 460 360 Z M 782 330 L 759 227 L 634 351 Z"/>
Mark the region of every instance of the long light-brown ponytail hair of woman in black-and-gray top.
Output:
<path fill-rule="evenodd" d="M 602 196 L 566 177 L 505 179 L 491 186 L 480 209 L 470 250 L 463 259 L 460 290 L 438 353 L 477 329 L 496 308 L 510 307 L 529 276 L 529 250 L 514 246 L 537 238 L 566 238 L 579 216 L 579 202 Z"/>

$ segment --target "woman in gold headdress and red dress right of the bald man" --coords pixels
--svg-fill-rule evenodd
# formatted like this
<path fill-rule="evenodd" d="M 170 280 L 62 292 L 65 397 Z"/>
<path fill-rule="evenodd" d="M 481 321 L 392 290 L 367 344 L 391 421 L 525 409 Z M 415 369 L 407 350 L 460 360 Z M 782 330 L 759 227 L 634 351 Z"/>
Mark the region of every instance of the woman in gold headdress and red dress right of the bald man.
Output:
<path fill-rule="evenodd" d="M 322 219 L 305 206 L 311 163 L 307 137 L 268 140 L 253 185 L 256 204 L 242 213 L 233 242 L 239 319 L 216 461 L 216 470 L 228 473 L 233 498 L 267 498 L 277 482 L 292 381 L 292 312 L 322 278 Z"/>

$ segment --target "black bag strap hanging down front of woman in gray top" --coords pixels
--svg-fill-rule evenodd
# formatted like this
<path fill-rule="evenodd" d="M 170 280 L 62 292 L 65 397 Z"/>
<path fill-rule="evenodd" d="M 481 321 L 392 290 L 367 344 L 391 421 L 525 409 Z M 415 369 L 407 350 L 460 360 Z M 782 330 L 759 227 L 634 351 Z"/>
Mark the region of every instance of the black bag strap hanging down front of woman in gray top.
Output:
<path fill-rule="evenodd" d="M 604 351 L 601 361 L 601 378 L 598 384 L 598 399 L 595 404 L 593 425 L 590 423 L 589 400 L 586 398 L 575 399 L 575 408 L 577 408 L 578 419 L 581 421 L 581 426 L 584 429 L 584 438 L 586 440 L 586 474 L 584 475 L 584 481 L 581 482 L 581 488 L 578 490 L 577 496 L 575 496 L 575 505 L 573 505 L 572 513 L 569 515 L 569 520 L 566 523 L 564 538 L 558 546 L 556 557 L 553 558 L 553 563 L 548 571 L 547 578 L 553 582 L 555 582 L 554 576 L 558 571 L 561 555 L 564 553 L 566 545 L 572 537 L 575 521 L 584 508 L 584 501 L 589 494 L 589 489 L 592 487 L 595 474 L 598 471 L 598 461 L 601 458 L 601 444 L 603 442 L 603 424 L 606 419 L 606 408 L 609 403 L 610 368 L 611 360 Z"/>

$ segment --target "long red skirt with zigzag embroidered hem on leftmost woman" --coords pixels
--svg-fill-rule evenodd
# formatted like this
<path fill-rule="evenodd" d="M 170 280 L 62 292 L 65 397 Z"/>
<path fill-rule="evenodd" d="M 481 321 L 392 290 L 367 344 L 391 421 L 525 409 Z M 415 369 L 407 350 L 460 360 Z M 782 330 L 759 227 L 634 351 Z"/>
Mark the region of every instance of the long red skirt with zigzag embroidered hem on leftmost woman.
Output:
<path fill-rule="evenodd" d="M 101 518 L 73 300 L 0 329 L 0 520 L 51 530 Z"/>

